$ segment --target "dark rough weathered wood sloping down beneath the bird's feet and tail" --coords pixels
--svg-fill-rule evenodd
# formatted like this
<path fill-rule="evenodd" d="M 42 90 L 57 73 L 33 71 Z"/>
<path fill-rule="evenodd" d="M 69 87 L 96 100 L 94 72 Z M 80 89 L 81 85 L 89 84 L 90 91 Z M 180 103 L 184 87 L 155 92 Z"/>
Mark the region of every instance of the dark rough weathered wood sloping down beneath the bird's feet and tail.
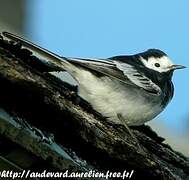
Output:
<path fill-rule="evenodd" d="M 19 44 L 1 39 L 0 107 L 53 133 L 55 141 L 70 156 L 74 152 L 87 162 L 88 169 L 92 166 L 99 171 L 134 169 L 136 178 L 167 180 L 189 176 L 188 158 L 162 143 L 163 139 L 146 126 L 132 129 L 145 150 L 139 151 L 123 126 L 107 123 L 77 95 L 75 87 L 49 74 L 53 68 L 58 70 Z M 27 148 L 24 143 L 20 145 Z M 38 148 L 43 151 L 41 146 Z M 29 150 L 35 153 L 32 148 Z"/>

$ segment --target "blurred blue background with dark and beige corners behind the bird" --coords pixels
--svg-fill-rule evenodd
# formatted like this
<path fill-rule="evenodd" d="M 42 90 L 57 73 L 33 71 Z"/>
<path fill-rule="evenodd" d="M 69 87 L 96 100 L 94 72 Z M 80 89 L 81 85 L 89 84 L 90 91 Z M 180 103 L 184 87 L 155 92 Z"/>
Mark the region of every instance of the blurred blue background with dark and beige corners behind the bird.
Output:
<path fill-rule="evenodd" d="M 189 1 L 0 0 L 0 31 L 10 31 L 59 55 L 100 57 L 165 51 L 189 67 Z M 148 123 L 189 156 L 189 69 L 174 74 L 175 95 Z"/>

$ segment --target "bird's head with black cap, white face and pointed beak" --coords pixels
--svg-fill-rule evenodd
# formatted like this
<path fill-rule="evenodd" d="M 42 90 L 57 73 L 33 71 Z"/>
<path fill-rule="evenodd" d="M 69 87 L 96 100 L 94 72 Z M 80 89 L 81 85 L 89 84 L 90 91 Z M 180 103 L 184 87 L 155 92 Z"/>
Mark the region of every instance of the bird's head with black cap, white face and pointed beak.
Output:
<path fill-rule="evenodd" d="M 185 66 L 173 64 L 170 58 L 163 51 L 149 49 L 138 54 L 145 67 L 159 73 L 171 73 L 176 69 L 183 69 Z"/>

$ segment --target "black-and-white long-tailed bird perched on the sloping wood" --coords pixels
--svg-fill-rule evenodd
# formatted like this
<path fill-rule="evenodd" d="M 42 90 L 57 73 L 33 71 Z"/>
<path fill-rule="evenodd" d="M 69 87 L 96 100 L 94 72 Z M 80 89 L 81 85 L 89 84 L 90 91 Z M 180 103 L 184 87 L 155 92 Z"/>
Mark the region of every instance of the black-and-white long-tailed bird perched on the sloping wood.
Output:
<path fill-rule="evenodd" d="M 127 125 L 141 125 L 156 117 L 173 97 L 173 71 L 184 68 L 157 49 L 108 59 L 66 58 L 16 35 L 3 35 L 67 71 L 77 81 L 79 95 L 116 124 L 122 124 L 118 114 Z"/>

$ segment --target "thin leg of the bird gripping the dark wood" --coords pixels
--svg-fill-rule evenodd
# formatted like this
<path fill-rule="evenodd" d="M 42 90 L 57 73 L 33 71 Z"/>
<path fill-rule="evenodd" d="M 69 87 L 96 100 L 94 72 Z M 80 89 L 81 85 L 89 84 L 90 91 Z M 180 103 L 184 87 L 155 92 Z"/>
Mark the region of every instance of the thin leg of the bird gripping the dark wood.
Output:
<path fill-rule="evenodd" d="M 129 126 L 127 125 L 127 123 L 125 122 L 125 119 L 123 118 L 123 116 L 118 113 L 118 114 L 117 114 L 117 117 L 118 117 L 118 119 L 123 123 L 123 125 L 124 125 L 126 131 L 129 133 L 129 135 L 130 135 L 131 138 L 133 139 L 134 143 L 137 145 L 139 151 L 144 152 L 144 149 L 140 146 L 138 139 L 137 139 L 137 138 L 135 137 L 135 135 L 131 132 L 131 130 L 130 130 Z"/>

